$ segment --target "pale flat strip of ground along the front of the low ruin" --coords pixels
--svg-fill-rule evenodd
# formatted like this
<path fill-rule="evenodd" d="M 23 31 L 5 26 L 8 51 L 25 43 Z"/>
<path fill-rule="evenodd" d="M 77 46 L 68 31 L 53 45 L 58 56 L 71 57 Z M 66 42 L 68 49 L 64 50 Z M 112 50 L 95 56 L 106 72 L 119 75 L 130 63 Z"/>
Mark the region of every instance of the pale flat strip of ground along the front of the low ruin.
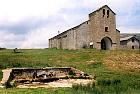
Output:
<path fill-rule="evenodd" d="M 95 80 L 91 79 L 60 79 L 58 81 L 50 82 L 50 83 L 33 83 L 33 84 L 23 84 L 18 85 L 17 88 L 52 88 L 52 87 L 72 87 L 74 84 L 82 84 L 87 85 L 89 83 L 94 83 Z"/>

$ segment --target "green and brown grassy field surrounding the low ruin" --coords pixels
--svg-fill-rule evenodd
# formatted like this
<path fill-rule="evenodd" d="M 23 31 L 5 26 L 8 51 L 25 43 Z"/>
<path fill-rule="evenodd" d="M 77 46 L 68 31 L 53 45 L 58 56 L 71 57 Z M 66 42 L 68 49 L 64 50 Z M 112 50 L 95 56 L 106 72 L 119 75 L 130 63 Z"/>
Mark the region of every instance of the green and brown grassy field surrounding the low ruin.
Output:
<path fill-rule="evenodd" d="M 0 50 L 2 69 L 13 67 L 75 67 L 96 76 L 93 86 L 73 88 L 0 89 L 1 94 L 140 94 L 140 52 L 95 49 Z"/>

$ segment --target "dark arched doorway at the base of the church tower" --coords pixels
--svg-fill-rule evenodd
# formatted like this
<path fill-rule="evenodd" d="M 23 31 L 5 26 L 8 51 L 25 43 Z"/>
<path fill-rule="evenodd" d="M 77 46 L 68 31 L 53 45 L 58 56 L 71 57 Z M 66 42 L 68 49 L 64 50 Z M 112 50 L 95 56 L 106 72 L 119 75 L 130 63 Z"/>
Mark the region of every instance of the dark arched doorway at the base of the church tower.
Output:
<path fill-rule="evenodd" d="M 102 50 L 110 50 L 112 46 L 112 40 L 109 37 L 104 37 L 101 40 L 101 49 Z"/>

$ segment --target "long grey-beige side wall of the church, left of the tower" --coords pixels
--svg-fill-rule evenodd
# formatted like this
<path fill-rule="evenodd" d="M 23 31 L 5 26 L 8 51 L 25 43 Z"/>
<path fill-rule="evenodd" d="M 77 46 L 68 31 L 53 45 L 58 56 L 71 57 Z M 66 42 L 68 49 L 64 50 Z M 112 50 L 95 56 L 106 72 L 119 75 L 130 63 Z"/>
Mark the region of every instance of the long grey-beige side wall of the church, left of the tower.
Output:
<path fill-rule="evenodd" d="M 80 49 L 89 44 L 88 21 L 49 39 L 49 48 Z"/>

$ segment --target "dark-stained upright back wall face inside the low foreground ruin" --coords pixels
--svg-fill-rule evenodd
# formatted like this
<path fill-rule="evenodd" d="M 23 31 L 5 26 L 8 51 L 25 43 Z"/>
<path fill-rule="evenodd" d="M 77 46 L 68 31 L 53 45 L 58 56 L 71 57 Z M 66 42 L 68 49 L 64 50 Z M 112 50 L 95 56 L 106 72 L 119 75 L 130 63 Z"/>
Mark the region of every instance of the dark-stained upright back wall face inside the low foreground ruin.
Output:
<path fill-rule="evenodd" d="M 12 78 L 17 81 L 65 77 L 71 68 L 12 69 Z"/>

